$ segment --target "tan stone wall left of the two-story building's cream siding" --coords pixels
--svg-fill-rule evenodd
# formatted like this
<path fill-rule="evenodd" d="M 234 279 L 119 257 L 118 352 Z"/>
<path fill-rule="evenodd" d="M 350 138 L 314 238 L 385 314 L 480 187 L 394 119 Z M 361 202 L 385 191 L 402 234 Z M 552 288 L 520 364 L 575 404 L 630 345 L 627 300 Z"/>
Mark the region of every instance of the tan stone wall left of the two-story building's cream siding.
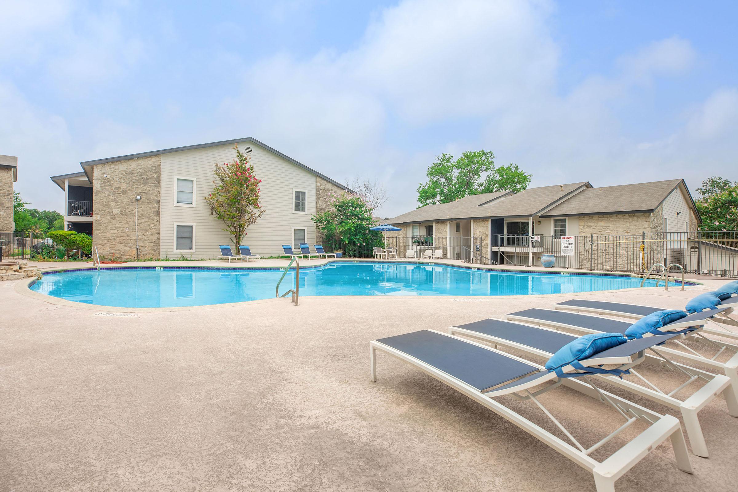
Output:
<path fill-rule="evenodd" d="M 159 257 L 162 156 L 93 167 L 92 236 L 100 257 L 136 258 L 136 195 L 139 258 Z"/>

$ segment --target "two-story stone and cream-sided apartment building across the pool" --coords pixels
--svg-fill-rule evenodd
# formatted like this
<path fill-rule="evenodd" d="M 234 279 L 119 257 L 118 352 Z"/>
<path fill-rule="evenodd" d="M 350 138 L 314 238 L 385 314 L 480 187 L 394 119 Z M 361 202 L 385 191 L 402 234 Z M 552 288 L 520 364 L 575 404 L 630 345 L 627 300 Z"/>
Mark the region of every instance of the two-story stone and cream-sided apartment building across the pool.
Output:
<path fill-rule="evenodd" d="M 250 156 L 266 210 L 244 243 L 262 256 L 283 243 L 315 243 L 311 215 L 328 207 L 329 193 L 351 190 L 251 137 L 81 162 L 80 172 L 52 176 L 64 191 L 67 229 L 91 234 L 101 257 L 217 256 L 230 236 L 204 197 L 234 145 Z"/>

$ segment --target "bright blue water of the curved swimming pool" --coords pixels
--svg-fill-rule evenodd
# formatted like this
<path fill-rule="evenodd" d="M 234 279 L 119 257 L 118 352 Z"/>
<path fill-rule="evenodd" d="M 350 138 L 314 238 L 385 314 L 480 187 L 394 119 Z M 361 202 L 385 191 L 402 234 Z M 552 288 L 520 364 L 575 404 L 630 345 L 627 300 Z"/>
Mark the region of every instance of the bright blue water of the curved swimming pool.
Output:
<path fill-rule="evenodd" d="M 213 268 L 120 268 L 46 274 L 33 291 L 87 304 L 169 308 L 275 297 L 282 271 Z M 328 263 L 300 269 L 304 296 L 507 296 L 573 294 L 638 287 L 627 276 L 473 271 L 417 263 Z M 294 270 L 280 294 L 294 285 Z M 655 285 L 647 280 L 647 286 Z"/>

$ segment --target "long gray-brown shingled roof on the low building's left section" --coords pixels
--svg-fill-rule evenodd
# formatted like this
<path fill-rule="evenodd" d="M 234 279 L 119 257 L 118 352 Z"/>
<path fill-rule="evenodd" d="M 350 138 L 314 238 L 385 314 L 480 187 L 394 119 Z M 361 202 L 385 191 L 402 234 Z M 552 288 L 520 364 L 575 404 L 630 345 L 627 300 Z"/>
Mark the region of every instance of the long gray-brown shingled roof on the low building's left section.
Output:
<path fill-rule="evenodd" d="M 570 193 L 587 186 L 590 186 L 590 184 L 587 181 L 582 181 L 581 183 L 528 188 L 528 190 L 514 194 L 511 191 L 502 191 L 465 196 L 449 204 L 427 205 L 398 215 L 389 219 L 387 224 L 537 215 L 545 207 L 549 207 L 556 201 L 570 195 Z"/>

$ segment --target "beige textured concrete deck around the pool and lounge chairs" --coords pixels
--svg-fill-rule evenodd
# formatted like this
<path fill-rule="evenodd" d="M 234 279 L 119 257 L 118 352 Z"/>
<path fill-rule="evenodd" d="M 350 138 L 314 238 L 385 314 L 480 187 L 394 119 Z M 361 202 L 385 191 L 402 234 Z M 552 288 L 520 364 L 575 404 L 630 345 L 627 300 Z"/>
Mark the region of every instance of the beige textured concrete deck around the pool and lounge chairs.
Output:
<path fill-rule="evenodd" d="M 576 297 L 683 308 L 728 280 L 699 281 Z M 369 380 L 371 339 L 572 294 L 300 297 L 129 317 L 28 297 L 18 282 L 0 283 L 0 491 L 594 490 L 589 472 L 407 364 L 380 354 Z M 615 422 L 568 389 L 547 395 L 578 437 Z M 505 403 L 551 429 L 528 403 Z M 719 397 L 700 421 L 711 457 L 692 456 L 694 475 L 664 443 L 617 490 L 729 490 L 738 419 Z"/>

